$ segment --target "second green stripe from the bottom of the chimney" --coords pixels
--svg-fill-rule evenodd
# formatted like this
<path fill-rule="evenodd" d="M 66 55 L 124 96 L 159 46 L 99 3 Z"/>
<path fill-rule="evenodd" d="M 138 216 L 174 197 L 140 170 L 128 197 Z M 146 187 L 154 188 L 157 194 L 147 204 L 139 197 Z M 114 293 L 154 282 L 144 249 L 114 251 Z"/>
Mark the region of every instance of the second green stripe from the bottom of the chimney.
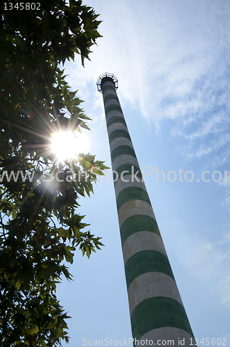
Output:
<path fill-rule="evenodd" d="M 170 263 L 166 255 L 157 251 L 140 251 L 132 255 L 125 264 L 125 278 L 127 289 L 131 282 L 138 276 L 147 272 L 162 272 L 175 280 Z"/>

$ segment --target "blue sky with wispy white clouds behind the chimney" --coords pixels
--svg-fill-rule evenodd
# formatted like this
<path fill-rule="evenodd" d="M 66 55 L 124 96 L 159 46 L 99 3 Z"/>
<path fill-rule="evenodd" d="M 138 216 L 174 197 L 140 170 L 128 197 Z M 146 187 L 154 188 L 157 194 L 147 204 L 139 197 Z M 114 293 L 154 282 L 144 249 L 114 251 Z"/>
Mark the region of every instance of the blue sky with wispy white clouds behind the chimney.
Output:
<path fill-rule="evenodd" d="M 230 3 L 214 0 L 89 0 L 100 13 L 91 61 L 66 65 L 67 81 L 85 100 L 91 153 L 111 167 L 96 80 L 118 78 L 118 98 L 140 167 L 152 167 L 145 184 L 195 337 L 230 344 Z M 155 170 L 177 172 L 156 182 Z M 179 181 L 179 169 L 194 180 Z M 203 182 L 202 172 L 210 171 Z M 172 176 L 170 176 L 172 177 Z M 188 174 L 188 179 L 191 176 Z M 200 179 L 200 182 L 197 182 Z M 215 176 L 218 180 L 218 174 Z M 104 178 L 80 214 L 103 237 L 88 260 L 76 251 L 71 273 L 57 294 L 72 316 L 69 346 L 82 339 L 132 337 L 121 241 L 112 182 Z M 65 344 L 64 344 L 65 346 Z M 131 345 L 130 345 L 131 346 Z M 202 346 L 202 344 L 200 344 Z"/>

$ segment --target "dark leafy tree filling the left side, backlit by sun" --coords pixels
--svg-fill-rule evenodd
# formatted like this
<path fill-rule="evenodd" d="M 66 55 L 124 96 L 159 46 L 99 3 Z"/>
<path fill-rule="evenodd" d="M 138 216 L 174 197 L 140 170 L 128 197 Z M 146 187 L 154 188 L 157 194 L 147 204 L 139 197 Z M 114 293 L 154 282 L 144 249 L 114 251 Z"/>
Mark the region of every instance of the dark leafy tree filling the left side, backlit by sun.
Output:
<path fill-rule="evenodd" d="M 1 9 L 1 346 L 68 341 L 68 316 L 55 295 L 60 277 L 71 279 L 64 260 L 73 262 L 77 246 L 89 257 L 103 245 L 82 230 L 89 224 L 76 208 L 79 196 L 93 192 L 105 165 L 81 153 L 57 166 L 50 146 L 60 129 L 89 129 L 60 63 L 77 53 L 84 65 L 100 37 L 100 21 L 81 0 L 34 4 L 20 9 L 19 2 L 12 3 L 10 9 L 6 1 Z"/>

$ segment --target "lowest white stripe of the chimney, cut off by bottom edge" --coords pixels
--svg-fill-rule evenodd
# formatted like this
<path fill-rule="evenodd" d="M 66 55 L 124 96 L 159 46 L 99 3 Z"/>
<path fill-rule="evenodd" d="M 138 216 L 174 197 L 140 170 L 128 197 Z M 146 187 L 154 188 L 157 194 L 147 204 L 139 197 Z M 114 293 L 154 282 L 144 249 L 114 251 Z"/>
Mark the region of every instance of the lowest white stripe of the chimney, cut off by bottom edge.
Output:
<path fill-rule="evenodd" d="M 163 328 L 157 328 L 154 330 L 150 330 L 149 332 L 146 332 L 145 335 L 139 339 L 139 345 L 136 343 L 136 346 L 141 345 L 141 341 L 145 340 L 152 340 L 151 344 L 152 346 L 160 346 L 159 344 L 161 341 L 166 340 L 167 344 L 165 346 L 176 346 L 176 347 L 191 347 L 196 346 L 195 339 L 192 337 L 188 332 L 185 330 L 179 329 L 179 328 L 173 328 L 173 327 L 163 327 Z M 191 340 L 192 339 L 192 340 Z M 184 341 L 183 341 L 184 340 Z M 159 341 L 159 344 L 157 344 L 157 341 Z M 174 344 L 168 342 L 168 341 L 174 341 Z M 179 341 L 183 344 L 180 344 Z M 149 344 L 149 342 L 148 342 Z M 143 345 L 145 346 L 145 345 Z M 161 346 L 163 346 L 161 344 Z"/>

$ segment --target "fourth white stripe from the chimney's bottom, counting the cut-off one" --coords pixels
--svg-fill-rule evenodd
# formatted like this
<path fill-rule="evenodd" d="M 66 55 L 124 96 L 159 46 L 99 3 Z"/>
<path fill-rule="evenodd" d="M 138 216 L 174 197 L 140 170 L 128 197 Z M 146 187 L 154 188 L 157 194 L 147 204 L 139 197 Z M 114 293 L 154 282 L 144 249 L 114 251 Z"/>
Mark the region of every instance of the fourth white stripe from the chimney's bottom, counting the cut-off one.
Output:
<path fill-rule="evenodd" d="M 144 214 L 156 220 L 152 206 L 149 203 L 145 203 L 145 201 L 142 200 L 132 200 L 124 203 L 118 212 L 120 228 L 127 218 L 136 216 L 136 214 Z"/>

